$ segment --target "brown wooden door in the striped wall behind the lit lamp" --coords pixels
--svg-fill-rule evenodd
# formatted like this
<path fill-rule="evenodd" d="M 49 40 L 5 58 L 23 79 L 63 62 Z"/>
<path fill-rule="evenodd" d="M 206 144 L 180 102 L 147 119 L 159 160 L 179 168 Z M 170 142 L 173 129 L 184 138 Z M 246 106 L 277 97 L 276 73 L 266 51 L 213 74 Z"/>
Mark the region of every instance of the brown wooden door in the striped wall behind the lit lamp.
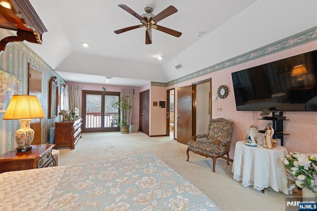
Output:
<path fill-rule="evenodd" d="M 42 102 L 42 72 L 29 63 L 29 95 L 35 95 L 43 108 Z M 32 119 L 30 127 L 34 130 L 32 145 L 42 144 L 41 119 Z"/>

